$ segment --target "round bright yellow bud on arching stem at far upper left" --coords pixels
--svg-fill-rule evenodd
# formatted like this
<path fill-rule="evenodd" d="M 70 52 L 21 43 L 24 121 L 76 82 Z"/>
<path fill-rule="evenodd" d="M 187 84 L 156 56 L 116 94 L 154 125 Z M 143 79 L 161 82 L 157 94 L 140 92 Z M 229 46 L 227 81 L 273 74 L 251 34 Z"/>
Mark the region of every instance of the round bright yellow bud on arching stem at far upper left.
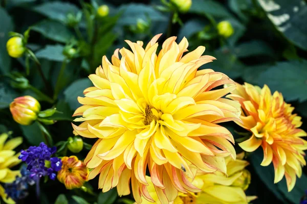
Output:
<path fill-rule="evenodd" d="M 19 36 L 12 37 L 7 42 L 7 50 L 9 56 L 13 58 L 19 58 L 24 55 L 26 48 L 23 42 L 23 38 Z"/>

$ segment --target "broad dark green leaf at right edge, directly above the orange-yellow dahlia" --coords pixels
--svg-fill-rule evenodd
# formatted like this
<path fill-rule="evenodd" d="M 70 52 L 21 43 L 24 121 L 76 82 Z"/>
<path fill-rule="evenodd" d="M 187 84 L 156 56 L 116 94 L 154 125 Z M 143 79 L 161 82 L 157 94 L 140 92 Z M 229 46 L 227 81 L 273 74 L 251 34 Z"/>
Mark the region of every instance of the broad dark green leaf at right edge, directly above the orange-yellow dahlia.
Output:
<path fill-rule="evenodd" d="M 282 93 L 288 100 L 307 99 L 307 61 L 278 62 L 259 74 L 259 85 L 267 84 L 272 92 Z"/>

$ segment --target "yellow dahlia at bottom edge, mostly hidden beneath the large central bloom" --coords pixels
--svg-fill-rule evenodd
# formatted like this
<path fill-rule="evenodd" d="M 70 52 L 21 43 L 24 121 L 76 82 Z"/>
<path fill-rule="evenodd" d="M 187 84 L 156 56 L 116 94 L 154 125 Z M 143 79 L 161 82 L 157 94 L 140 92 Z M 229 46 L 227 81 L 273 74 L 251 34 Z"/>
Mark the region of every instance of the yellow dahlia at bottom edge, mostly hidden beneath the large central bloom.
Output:
<path fill-rule="evenodd" d="M 243 155 L 238 155 L 243 159 Z M 178 197 L 170 203 L 174 204 L 247 204 L 256 196 L 246 196 L 245 190 L 250 184 L 249 171 L 245 169 L 248 165 L 247 161 L 232 158 L 226 158 L 227 175 L 222 172 L 201 173 L 198 172 L 192 184 L 200 189 L 201 192 L 179 193 Z M 248 173 L 247 173 L 248 172 Z M 196 173 L 196 172 L 195 172 Z M 147 190 L 156 203 L 161 203 L 155 188 L 149 176 L 146 176 L 148 182 Z M 147 200 L 143 200 L 142 204 L 150 204 Z"/>

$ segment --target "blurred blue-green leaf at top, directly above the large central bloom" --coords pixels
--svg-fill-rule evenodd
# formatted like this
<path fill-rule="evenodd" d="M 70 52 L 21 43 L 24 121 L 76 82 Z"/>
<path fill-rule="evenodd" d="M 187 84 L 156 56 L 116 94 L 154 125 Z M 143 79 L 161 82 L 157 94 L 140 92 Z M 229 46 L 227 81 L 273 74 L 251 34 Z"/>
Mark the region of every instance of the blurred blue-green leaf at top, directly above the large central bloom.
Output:
<path fill-rule="evenodd" d="M 124 5 L 119 8 L 119 12 L 123 12 L 118 20 L 119 25 L 136 24 L 139 18 L 147 21 L 148 17 L 150 17 L 151 21 L 167 21 L 167 17 L 161 12 L 144 4 Z"/>

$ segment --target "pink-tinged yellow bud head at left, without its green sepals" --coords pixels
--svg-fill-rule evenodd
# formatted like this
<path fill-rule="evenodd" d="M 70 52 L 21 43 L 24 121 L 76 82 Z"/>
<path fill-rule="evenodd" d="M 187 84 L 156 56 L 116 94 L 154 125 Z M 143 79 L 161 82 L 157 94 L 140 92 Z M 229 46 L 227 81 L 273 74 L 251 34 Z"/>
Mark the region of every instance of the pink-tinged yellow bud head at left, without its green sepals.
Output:
<path fill-rule="evenodd" d="M 39 102 L 32 96 L 21 96 L 15 98 L 10 104 L 13 119 L 22 125 L 29 125 L 36 120 L 40 111 Z"/>

